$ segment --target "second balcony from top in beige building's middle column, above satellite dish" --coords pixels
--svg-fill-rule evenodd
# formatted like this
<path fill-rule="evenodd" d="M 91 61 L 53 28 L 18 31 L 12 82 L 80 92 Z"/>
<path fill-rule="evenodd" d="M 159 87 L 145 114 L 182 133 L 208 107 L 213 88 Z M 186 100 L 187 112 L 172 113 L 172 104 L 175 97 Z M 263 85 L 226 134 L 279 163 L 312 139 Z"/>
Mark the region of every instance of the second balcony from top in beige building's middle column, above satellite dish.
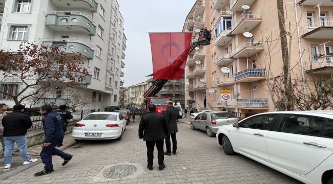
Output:
<path fill-rule="evenodd" d="M 245 30 L 251 31 L 261 22 L 261 12 L 244 12 L 231 26 L 233 34 L 242 34 Z"/>

